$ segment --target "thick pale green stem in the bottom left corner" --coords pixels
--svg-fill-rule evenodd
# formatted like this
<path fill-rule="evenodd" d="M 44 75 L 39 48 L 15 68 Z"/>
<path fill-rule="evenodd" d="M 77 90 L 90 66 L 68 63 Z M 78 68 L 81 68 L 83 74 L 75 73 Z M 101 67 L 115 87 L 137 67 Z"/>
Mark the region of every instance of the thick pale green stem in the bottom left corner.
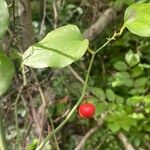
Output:
<path fill-rule="evenodd" d="M 8 150 L 1 113 L 0 113 L 0 150 Z"/>

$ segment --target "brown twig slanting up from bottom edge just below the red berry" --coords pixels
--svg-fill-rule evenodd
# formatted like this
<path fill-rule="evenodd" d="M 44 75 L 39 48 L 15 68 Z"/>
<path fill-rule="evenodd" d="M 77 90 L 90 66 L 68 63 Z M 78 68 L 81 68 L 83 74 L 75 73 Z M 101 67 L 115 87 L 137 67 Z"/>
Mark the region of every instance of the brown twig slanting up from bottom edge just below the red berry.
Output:
<path fill-rule="evenodd" d="M 92 135 L 94 134 L 104 123 L 104 119 L 106 118 L 107 112 L 105 112 L 104 114 L 102 114 L 102 116 L 98 119 L 97 121 L 97 125 L 94 126 L 93 128 L 91 128 L 82 138 L 82 140 L 80 141 L 80 143 L 78 144 L 78 146 L 74 149 L 74 150 L 81 150 L 82 147 L 84 146 L 86 140 Z"/>

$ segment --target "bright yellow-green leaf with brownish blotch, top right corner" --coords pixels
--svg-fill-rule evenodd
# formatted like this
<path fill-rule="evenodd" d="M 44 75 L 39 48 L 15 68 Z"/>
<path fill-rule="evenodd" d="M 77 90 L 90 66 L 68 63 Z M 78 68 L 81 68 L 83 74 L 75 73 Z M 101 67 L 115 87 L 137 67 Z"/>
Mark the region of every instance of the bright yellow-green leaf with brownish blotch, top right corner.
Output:
<path fill-rule="evenodd" d="M 135 3 L 129 6 L 124 15 L 124 24 L 130 32 L 150 36 L 150 3 Z"/>

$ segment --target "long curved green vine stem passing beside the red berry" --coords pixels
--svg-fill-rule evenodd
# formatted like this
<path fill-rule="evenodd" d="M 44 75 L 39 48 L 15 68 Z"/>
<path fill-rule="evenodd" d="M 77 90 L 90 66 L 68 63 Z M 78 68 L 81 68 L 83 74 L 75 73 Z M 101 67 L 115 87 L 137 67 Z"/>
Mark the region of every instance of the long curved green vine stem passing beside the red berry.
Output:
<path fill-rule="evenodd" d="M 111 37 L 111 38 L 108 38 L 107 39 L 107 42 L 105 42 L 99 49 L 97 49 L 95 52 L 92 51 L 91 52 L 91 49 L 90 49 L 90 52 L 92 54 L 92 57 L 91 57 L 91 60 L 90 60 L 90 64 L 89 64 L 89 67 L 88 67 L 88 71 L 87 71 L 87 74 L 86 74 L 86 79 L 85 79 L 85 82 L 84 82 L 84 85 L 83 85 L 83 90 L 82 90 L 82 94 L 79 98 L 79 100 L 77 101 L 77 103 L 75 104 L 75 106 L 72 108 L 72 110 L 70 111 L 70 113 L 68 114 L 68 116 L 64 119 L 64 121 L 62 123 L 60 123 L 60 125 L 55 129 L 53 130 L 52 132 L 48 133 L 47 137 L 43 140 L 43 142 L 36 148 L 36 150 L 41 150 L 45 144 L 49 141 L 49 139 L 54 136 L 67 122 L 68 120 L 70 119 L 70 117 L 73 115 L 73 113 L 75 112 L 75 110 L 78 108 L 78 106 L 80 105 L 80 103 L 82 102 L 82 99 L 84 98 L 84 95 L 86 93 L 86 88 L 87 88 L 87 83 L 88 83 L 88 79 L 89 79 L 89 76 L 90 76 L 90 72 L 91 72 L 91 68 L 92 68 L 92 64 L 93 64 L 93 61 L 94 61 L 94 58 L 95 58 L 95 55 L 100 52 L 106 45 L 108 45 L 111 41 L 115 40 L 116 37 L 120 36 L 123 31 L 125 29 L 125 26 L 123 25 L 122 28 L 120 29 L 120 31 L 118 33 L 114 32 L 114 35 Z"/>

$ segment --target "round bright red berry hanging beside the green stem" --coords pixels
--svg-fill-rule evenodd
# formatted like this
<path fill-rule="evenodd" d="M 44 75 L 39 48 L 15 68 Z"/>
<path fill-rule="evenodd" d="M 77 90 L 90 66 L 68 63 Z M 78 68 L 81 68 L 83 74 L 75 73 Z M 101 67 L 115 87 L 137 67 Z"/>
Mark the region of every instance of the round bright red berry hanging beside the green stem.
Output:
<path fill-rule="evenodd" d="M 82 118 L 92 118 L 95 114 L 95 106 L 92 103 L 82 103 L 79 106 L 79 115 Z"/>

